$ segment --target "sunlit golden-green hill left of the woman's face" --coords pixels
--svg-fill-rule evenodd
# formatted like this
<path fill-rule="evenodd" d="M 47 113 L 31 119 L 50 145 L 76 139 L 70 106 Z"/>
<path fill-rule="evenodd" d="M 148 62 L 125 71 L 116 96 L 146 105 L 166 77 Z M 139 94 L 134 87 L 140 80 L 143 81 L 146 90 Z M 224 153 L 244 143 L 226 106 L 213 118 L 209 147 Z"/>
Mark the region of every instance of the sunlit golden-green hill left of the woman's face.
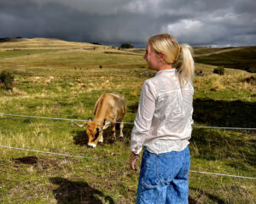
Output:
<path fill-rule="evenodd" d="M 67 42 L 53 38 L 22 38 L 0 42 L 0 69 L 50 67 L 61 69 L 140 68 L 143 54 L 88 42 Z"/>

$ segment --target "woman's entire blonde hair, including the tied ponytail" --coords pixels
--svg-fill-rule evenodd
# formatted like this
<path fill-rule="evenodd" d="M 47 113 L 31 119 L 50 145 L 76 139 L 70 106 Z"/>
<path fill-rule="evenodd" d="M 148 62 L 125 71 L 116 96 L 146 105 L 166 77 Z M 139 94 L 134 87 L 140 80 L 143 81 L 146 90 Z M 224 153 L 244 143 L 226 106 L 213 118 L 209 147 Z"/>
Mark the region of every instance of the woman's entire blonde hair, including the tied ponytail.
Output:
<path fill-rule="evenodd" d="M 148 39 L 148 46 L 155 53 L 166 55 L 166 64 L 177 65 L 177 75 L 181 88 L 185 82 L 192 82 L 194 77 L 195 65 L 192 57 L 193 49 L 189 44 L 179 44 L 177 40 L 169 34 L 159 34 Z M 178 65 L 181 60 L 180 65 Z"/>

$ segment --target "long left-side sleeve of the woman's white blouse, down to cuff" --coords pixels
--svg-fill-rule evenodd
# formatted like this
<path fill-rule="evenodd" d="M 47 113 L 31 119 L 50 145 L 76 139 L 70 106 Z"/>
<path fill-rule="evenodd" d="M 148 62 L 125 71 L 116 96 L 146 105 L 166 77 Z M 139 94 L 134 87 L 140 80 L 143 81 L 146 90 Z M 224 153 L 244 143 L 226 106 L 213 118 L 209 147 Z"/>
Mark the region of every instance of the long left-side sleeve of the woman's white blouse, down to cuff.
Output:
<path fill-rule="evenodd" d="M 151 127 L 155 109 L 155 99 L 156 93 L 154 84 L 147 80 L 143 83 L 137 116 L 134 121 L 134 127 L 131 131 L 130 150 L 136 154 L 139 154 L 143 149 L 144 139 L 147 137 Z"/>

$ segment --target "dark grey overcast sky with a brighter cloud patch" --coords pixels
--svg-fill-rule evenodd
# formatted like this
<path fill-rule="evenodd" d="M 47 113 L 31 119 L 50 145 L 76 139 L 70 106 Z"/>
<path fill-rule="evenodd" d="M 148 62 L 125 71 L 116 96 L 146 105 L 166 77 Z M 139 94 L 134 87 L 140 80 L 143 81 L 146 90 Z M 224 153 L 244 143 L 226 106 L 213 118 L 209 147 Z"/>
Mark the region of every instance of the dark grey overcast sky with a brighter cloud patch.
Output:
<path fill-rule="evenodd" d="M 256 45 L 255 0 L 0 0 L 0 37 L 191 45 Z"/>

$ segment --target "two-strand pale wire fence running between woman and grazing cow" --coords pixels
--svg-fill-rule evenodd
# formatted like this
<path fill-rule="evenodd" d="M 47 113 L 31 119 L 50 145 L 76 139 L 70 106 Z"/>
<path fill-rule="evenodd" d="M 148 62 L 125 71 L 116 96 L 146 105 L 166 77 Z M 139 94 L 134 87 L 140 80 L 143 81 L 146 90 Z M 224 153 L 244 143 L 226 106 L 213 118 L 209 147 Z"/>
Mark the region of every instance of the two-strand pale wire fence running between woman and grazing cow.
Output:
<path fill-rule="evenodd" d="M 74 122 L 74 121 L 89 122 L 89 120 L 82 120 L 82 119 L 44 117 L 44 116 L 24 116 L 24 115 L 10 114 L 10 113 L 0 113 L 0 115 L 1 116 L 20 116 L 20 117 L 49 119 L 49 120 L 61 120 L 61 121 L 72 121 L 72 122 Z M 95 121 L 95 122 L 102 122 L 102 121 Z M 111 121 L 108 121 L 108 122 L 111 122 Z M 114 123 L 134 124 L 133 122 L 114 122 Z M 256 130 L 256 128 L 244 128 L 244 127 L 201 127 L 201 126 L 193 126 L 193 127 L 194 128 L 212 128 L 212 129 L 231 129 L 231 130 Z M 122 163 L 122 164 L 127 164 L 127 165 L 129 164 L 128 162 L 125 162 L 125 161 L 107 160 L 107 159 L 100 159 L 100 158 L 87 157 L 87 156 L 67 155 L 67 154 L 49 152 L 49 151 L 42 151 L 42 150 L 30 150 L 30 149 L 24 149 L 24 148 L 19 148 L 19 147 L 5 146 L 5 145 L 1 145 L 1 144 L 0 144 L 0 147 L 7 148 L 7 149 L 12 149 L 12 150 L 26 150 L 26 151 L 36 152 L 36 153 L 55 155 L 55 156 L 68 156 L 68 157 L 76 157 L 76 158 L 95 160 L 95 161 L 108 161 L 108 162 Z M 200 172 L 200 171 L 195 171 L 195 170 L 190 170 L 190 172 L 191 173 L 202 173 L 202 174 L 226 176 L 226 177 L 233 177 L 233 178 L 256 179 L 256 178 L 253 178 L 253 177 L 230 175 L 230 174 L 225 174 L 225 173 L 209 173 L 209 172 Z"/>

